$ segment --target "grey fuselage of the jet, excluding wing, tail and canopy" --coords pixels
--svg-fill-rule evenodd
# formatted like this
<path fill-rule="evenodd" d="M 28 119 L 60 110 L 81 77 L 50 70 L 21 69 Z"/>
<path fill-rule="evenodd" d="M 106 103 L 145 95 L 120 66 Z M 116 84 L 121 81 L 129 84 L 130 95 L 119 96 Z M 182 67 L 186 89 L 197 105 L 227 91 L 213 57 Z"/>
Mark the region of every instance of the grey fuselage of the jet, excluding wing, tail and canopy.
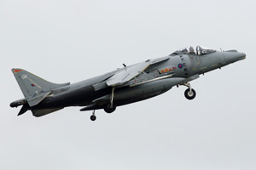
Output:
<path fill-rule="evenodd" d="M 113 97 L 114 105 L 127 105 L 163 94 L 175 85 L 189 82 L 208 71 L 245 59 L 245 54 L 238 53 L 236 50 L 216 51 L 205 55 L 184 54 L 181 51 L 176 51 L 167 58 L 169 59 L 150 65 L 138 77 L 127 82 L 127 86 L 116 88 Z M 67 106 L 87 106 L 84 111 L 102 109 L 111 96 L 112 88 L 103 86 L 103 88 L 96 90 L 94 85 L 104 83 L 108 77 L 112 77 L 117 71 L 56 88 L 41 103 L 31 109 L 64 108 Z M 168 75 L 172 76 L 165 79 L 160 78 Z M 159 80 L 150 82 L 155 78 L 159 78 Z M 132 86 L 138 82 L 147 83 Z M 96 99 L 99 99 L 97 104 L 94 102 Z"/>

